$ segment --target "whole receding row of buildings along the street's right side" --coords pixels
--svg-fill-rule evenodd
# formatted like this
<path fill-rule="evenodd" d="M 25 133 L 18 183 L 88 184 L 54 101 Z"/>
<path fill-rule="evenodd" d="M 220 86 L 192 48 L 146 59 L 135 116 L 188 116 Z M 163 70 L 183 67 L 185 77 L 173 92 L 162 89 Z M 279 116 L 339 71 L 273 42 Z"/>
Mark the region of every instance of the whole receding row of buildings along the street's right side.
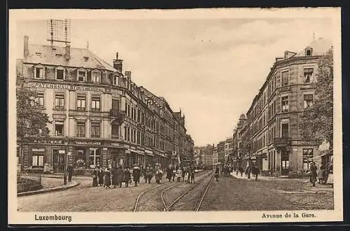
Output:
<path fill-rule="evenodd" d="M 282 176 L 306 172 L 311 160 L 318 169 L 326 165 L 330 155 L 319 155 L 315 140 L 302 139 L 300 121 L 304 109 L 316 99 L 318 59 L 331 48 L 330 41 L 318 38 L 299 52 L 286 50 L 283 57 L 276 57 L 232 136 L 218 144 L 195 147 L 197 165 L 244 169 L 247 160 L 252 160 L 262 173 Z"/>

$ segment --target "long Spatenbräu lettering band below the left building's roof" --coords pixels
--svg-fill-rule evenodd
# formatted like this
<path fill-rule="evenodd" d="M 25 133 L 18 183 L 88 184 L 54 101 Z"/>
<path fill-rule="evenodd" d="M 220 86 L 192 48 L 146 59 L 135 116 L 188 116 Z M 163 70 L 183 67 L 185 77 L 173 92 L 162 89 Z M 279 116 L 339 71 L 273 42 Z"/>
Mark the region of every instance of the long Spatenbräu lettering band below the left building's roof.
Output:
<path fill-rule="evenodd" d="M 58 90 L 85 90 L 90 92 L 111 92 L 111 90 L 106 87 L 75 86 L 75 85 L 57 84 L 57 83 L 27 83 L 27 86 L 33 87 L 33 88 L 51 88 L 51 89 L 58 89 Z"/>

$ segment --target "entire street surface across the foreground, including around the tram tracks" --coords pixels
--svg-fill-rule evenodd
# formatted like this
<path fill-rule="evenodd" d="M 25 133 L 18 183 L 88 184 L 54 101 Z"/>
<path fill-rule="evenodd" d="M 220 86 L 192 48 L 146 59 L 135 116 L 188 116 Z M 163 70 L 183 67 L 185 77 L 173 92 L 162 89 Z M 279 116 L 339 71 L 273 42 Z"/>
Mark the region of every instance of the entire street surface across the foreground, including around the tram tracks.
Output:
<path fill-rule="evenodd" d="M 164 211 L 162 198 L 169 207 L 181 195 L 169 211 L 194 211 L 211 176 L 211 172 L 198 173 L 198 184 L 163 179 L 155 188 L 153 179 L 150 185 L 141 182 L 138 187 L 121 189 L 94 188 L 90 178 L 74 177 L 80 186 L 71 190 L 18 197 L 18 211 L 134 211 L 137 197 L 145 190 L 139 211 Z M 301 180 L 221 177 L 212 181 L 200 211 L 333 209 L 332 198 L 331 188 L 312 188 Z"/>

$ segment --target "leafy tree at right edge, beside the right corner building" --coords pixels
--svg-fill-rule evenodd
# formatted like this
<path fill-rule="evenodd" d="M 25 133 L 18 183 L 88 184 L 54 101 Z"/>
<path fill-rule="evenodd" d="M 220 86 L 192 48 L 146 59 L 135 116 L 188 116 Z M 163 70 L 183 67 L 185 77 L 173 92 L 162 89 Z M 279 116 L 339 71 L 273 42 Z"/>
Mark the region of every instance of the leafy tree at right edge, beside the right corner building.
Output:
<path fill-rule="evenodd" d="M 315 100 L 304 109 L 300 123 L 300 132 L 305 140 L 314 140 L 321 144 L 327 139 L 332 147 L 333 141 L 333 52 L 326 52 L 318 59 Z"/>

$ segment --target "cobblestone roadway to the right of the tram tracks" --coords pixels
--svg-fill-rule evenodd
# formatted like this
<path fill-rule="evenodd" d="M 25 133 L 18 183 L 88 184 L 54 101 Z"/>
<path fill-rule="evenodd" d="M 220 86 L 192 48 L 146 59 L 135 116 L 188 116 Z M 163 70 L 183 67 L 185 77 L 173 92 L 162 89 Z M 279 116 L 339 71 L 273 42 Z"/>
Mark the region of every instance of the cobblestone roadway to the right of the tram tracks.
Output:
<path fill-rule="evenodd" d="M 201 211 L 333 209 L 332 190 L 313 189 L 300 180 L 213 181 Z"/>

